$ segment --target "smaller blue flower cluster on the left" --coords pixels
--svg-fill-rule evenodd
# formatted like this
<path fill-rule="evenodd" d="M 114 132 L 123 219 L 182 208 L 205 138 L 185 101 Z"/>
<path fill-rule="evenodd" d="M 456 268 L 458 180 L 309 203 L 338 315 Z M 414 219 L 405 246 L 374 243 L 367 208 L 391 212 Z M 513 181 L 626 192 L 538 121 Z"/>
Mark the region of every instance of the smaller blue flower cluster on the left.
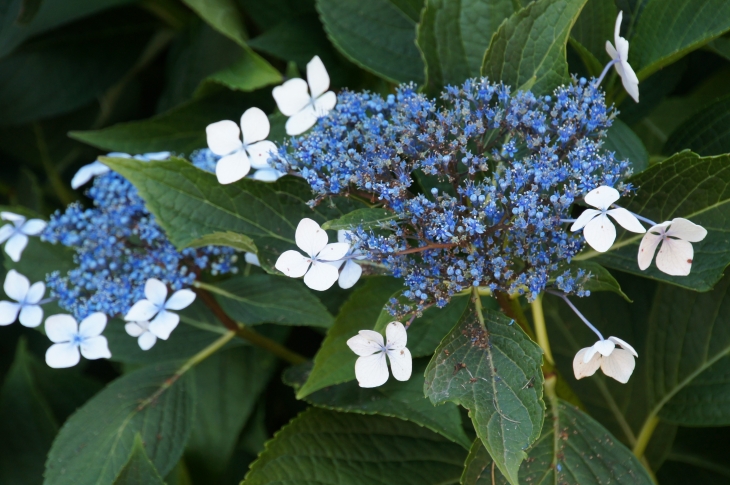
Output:
<path fill-rule="evenodd" d="M 207 165 L 201 163 L 200 168 Z M 192 285 L 198 274 L 235 273 L 235 251 L 207 246 L 177 251 L 145 208 L 137 189 L 115 172 L 97 176 L 87 195 L 94 207 L 80 203 L 57 211 L 41 238 L 73 248 L 77 267 L 47 277 L 51 295 L 76 319 L 93 312 L 124 315 L 144 298 L 148 278 L 173 290 Z"/>

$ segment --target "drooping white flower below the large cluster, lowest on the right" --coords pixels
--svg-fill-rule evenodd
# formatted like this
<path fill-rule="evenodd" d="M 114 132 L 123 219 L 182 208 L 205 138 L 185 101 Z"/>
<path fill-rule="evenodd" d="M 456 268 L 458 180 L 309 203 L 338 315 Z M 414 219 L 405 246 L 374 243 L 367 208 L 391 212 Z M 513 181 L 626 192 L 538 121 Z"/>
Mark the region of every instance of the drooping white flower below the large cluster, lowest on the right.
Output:
<path fill-rule="evenodd" d="M 616 345 L 621 348 L 617 349 Z M 591 347 L 580 349 L 573 359 L 573 372 L 576 379 L 583 379 L 595 374 L 600 367 L 608 377 L 626 384 L 636 366 L 634 357 L 639 357 L 639 354 L 631 345 L 618 337 L 608 337 Z"/>

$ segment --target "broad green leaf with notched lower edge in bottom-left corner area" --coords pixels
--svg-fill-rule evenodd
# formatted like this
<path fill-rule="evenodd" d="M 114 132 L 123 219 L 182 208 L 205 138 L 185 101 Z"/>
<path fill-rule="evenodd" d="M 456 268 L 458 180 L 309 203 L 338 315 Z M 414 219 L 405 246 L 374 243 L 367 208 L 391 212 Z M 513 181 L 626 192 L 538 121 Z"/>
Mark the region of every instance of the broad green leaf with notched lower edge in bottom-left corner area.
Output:
<path fill-rule="evenodd" d="M 190 374 L 176 378 L 178 367 L 142 368 L 87 402 L 53 442 L 44 483 L 111 483 L 127 462 L 137 433 L 160 475 L 172 470 L 190 435 L 195 410 L 194 379 Z"/>

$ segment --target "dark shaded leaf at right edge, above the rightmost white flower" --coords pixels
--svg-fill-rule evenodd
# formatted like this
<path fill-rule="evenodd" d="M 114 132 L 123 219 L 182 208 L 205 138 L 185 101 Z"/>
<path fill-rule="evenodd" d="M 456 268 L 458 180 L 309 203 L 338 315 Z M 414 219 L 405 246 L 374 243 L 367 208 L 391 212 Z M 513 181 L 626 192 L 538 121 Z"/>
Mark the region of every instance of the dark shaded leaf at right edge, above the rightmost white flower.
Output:
<path fill-rule="evenodd" d="M 702 156 L 730 152 L 730 96 L 717 100 L 680 125 L 662 151 L 671 155 L 684 149 Z"/>

